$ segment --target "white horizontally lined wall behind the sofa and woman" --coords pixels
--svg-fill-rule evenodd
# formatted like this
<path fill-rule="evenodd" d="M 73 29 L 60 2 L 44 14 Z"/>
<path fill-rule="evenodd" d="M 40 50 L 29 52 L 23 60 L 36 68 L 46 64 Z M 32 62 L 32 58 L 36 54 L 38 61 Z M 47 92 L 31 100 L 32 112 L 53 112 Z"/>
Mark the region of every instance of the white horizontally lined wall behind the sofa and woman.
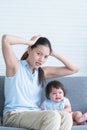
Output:
<path fill-rule="evenodd" d="M 53 48 L 75 61 L 87 76 L 87 0 L 0 0 L 0 39 L 3 34 L 31 38 L 41 34 L 49 38 Z M 25 46 L 14 48 L 18 58 Z M 45 65 L 57 65 L 49 58 Z M 0 42 L 0 75 L 5 64 Z"/>

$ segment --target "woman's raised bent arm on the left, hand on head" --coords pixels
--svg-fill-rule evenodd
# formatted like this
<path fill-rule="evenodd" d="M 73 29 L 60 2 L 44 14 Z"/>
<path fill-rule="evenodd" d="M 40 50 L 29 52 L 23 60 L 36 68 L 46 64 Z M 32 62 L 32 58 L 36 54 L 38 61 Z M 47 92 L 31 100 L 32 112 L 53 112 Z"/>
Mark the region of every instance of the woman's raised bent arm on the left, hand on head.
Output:
<path fill-rule="evenodd" d="M 6 64 L 7 76 L 12 76 L 16 73 L 18 68 L 18 59 L 12 49 L 12 45 L 24 44 L 32 46 L 40 36 L 34 36 L 31 40 L 12 35 L 3 35 L 2 37 L 2 52 Z"/>

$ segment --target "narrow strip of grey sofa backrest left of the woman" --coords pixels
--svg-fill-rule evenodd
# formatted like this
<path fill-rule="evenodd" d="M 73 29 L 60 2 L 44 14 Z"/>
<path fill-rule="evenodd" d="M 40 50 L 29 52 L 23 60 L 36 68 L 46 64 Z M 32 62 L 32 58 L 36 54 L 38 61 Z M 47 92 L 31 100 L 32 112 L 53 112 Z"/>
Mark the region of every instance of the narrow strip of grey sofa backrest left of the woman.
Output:
<path fill-rule="evenodd" d="M 3 115 L 4 107 L 4 76 L 0 76 L 0 116 Z"/>

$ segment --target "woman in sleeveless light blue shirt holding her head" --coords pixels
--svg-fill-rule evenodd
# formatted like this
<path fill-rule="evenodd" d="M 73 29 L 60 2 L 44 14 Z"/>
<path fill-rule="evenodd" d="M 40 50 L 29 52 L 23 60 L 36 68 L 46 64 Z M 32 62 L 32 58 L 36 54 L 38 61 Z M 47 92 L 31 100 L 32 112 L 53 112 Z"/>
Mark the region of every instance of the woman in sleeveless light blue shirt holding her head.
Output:
<path fill-rule="evenodd" d="M 12 45 L 17 44 L 28 46 L 21 60 L 12 49 Z M 25 40 L 4 35 L 2 52 L 6 64 L 3 124 L 36 130 L 70 130 L 72 118 L 67 112 L 41 111 L 41 86 L 45 79 L 76 73 L 79 67 L 53 51 L 50 41 L 41 36 Z M 49 56 L 61 61 L 63 66 L 41 68 Z"/>

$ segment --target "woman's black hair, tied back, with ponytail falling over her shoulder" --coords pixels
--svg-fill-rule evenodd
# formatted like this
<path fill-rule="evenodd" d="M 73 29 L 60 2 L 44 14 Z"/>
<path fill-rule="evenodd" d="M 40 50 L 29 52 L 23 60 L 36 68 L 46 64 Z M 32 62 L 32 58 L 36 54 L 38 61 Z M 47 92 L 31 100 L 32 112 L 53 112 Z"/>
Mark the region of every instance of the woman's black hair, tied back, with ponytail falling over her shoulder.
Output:
<path fill-rule="evenodd" d="M 36 41 L 36 43 L 31 46 L 31 49 L 34 49 L 34 48 L 36 48 L 36 47 L 39 46 L 39 45 L 43 45 L 43 46 L 49 47 L 49 49 L 50 49 L 50 54 L 51 54 L 51 51 L 52 51 L 51 43 L 50 43 L 50 41 L 49 41 L 47 38 L 45 38 L 45 37 L 40 37 L 40 38 Z M 26 52 L 22 55 L 21 60 L 26 60 L 27 57 L 28 57 L 28 55 L 29 55 L 29 54 L 28 54 L 28 51 L 26 51 Z M 41 67 L 39 67 L 39 73 L 38 73 L 38 75 L 39 75 L 39 76 L 38 76 L 38 77 L 39 77 L 39 83 L 43 86 L 43 85 L 44 85 L 44 81 L 45 81 L 45 77 L 44 77 L 44 71 L 42 70 Z"/>

